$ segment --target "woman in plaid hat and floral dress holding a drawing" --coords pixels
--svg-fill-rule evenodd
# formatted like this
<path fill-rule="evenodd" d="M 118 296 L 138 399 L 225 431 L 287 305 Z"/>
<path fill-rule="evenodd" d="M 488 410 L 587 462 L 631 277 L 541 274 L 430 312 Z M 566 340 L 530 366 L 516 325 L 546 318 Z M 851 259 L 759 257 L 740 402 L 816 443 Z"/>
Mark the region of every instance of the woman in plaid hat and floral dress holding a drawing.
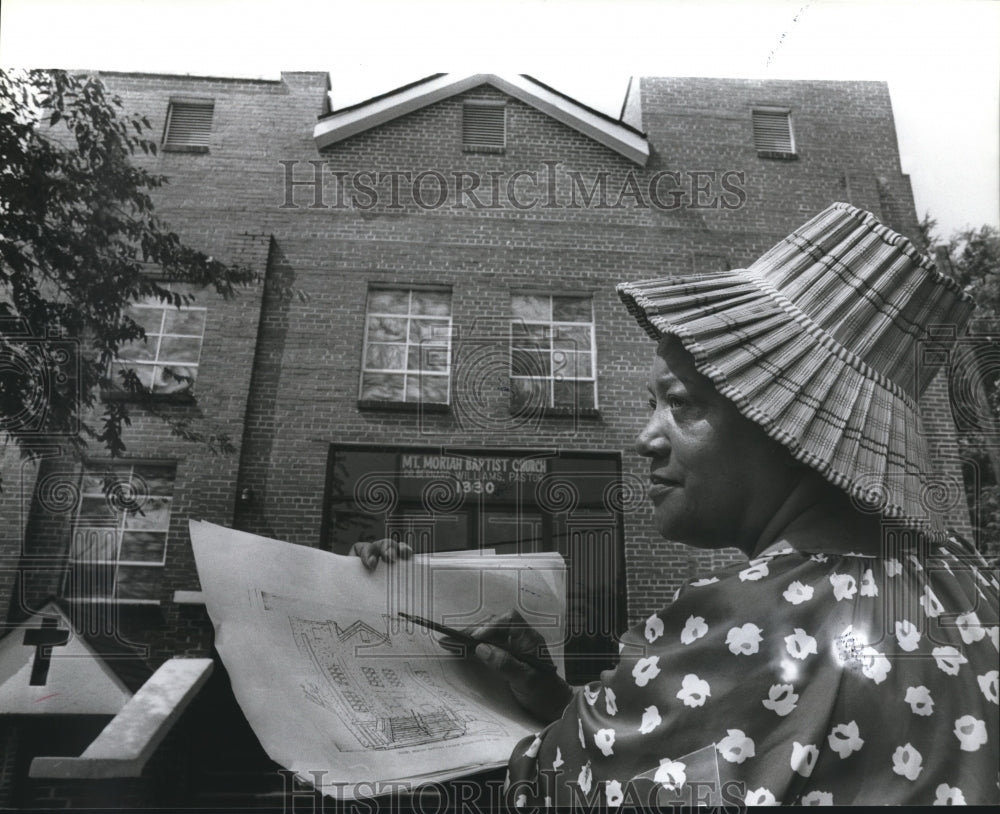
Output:
<path fill-rule="evenodd" d="M 537 647 L 516 617 L 476 631 L 551 721 L 511 755 L 512 801 L 997 802 L 998 586 L 942 530 L 916 407 L 924 327 L 971 302 L 847 204 L 748 269 L 619 294 L 657 340 L 657 528 L 749 562 L 686 584 L 583 688 L 506 652 Z"/>

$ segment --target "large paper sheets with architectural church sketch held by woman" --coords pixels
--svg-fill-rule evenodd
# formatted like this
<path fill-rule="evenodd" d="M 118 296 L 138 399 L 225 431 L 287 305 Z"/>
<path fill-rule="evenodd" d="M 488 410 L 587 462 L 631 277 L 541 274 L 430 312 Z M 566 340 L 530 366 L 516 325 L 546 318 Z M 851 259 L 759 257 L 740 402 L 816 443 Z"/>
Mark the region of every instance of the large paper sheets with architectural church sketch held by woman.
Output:
<path fill-rule="evenodd" d="M 375 573 L 354 557 L 192 522 L 216 648 L 261 744 L 340 799 L 506 762 L 538 728 L 509 689 L 440 634 L 517 608 L 561 667 L 558 555 L 415 557 Z"/>

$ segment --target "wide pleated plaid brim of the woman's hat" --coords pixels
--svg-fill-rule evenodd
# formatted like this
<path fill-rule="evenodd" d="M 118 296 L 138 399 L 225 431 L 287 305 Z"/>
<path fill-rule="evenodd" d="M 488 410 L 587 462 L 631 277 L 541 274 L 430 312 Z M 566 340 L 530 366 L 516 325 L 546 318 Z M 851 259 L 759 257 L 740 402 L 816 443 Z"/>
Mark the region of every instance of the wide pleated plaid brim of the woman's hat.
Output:
<path fill-rule="evenodd" d="M 759 275 L 623 283 L 618 294 L 651 338 L 676 336 L 740 413 L 860 510 L 943 532 L 956 490 L 932 480 L 916 403 Z"/>

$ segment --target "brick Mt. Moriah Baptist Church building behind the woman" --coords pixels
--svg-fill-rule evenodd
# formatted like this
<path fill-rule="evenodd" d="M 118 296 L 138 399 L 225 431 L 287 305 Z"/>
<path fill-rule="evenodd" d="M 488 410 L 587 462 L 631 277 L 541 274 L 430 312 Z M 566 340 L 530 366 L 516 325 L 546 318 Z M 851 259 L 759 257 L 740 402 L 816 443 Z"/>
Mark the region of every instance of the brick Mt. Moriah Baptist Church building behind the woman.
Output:
<path fill-rule="evenodd" d="M 651 346 L 614 284 L 741 267 L 836 200 L 917 235 L 879 82 L 643 78 L 615 119 L 523 76 L 432 76 L 337 111 L 323 73 L 102 76 L 162 128 L 159 213 L 262 284 L 137 304 L 155 348 L 127 359 L 234 454 L 136 410 L 124 461 L 4 459 L 0 804 L 282 793 L 211 671 L 188 518 L 338 553 L 384 535 L 558 550 L 570 678 L 595 674 L 615 632 L 735 556 L 651 530 L 631 451 Z M 947 396 L 932 386 L 926 423 L 967 532 Z M 89 704 L 37 702 L 87 686 Z M 149 687 L 172 712 L 125 759 L 98 733 Z"/>

